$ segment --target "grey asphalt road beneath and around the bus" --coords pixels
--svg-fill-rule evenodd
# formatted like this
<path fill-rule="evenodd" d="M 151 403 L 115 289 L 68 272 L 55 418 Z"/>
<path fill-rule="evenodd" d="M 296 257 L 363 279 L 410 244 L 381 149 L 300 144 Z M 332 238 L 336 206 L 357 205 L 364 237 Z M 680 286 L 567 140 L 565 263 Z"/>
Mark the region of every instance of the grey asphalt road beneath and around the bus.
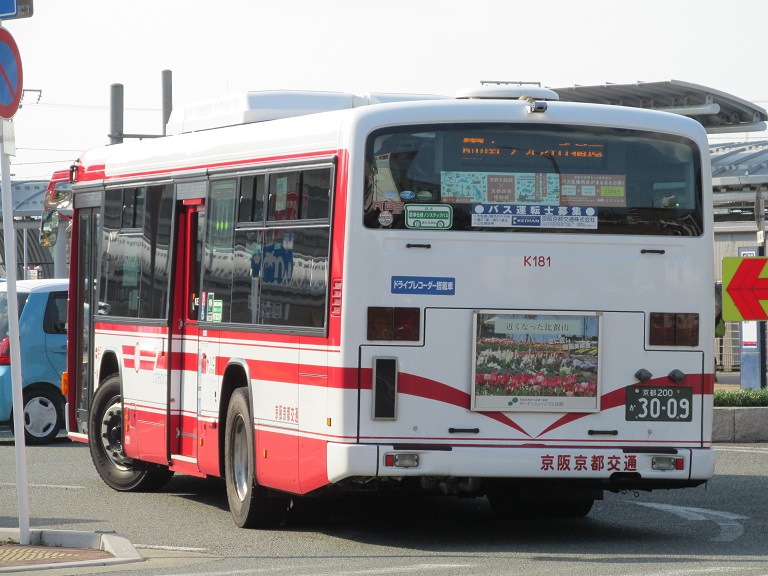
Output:
<path fill-rule="evenodd" d="M 498 521 L 485 499 L 365 498 L 316 526 L 258 531 L 233 525 L 218 480 L 177 476 L 159 493 L 117 493 L 85 445 L 60 439 L 27 448 L 30 525 L 116 531 L 147 558 L 77 574 L 767 575 L 768 445 L 717 450 L 707 487 L 606 494 L 582 520 Z M 14 452 L 0 431 L 6 528 L 18 527 Z"/>

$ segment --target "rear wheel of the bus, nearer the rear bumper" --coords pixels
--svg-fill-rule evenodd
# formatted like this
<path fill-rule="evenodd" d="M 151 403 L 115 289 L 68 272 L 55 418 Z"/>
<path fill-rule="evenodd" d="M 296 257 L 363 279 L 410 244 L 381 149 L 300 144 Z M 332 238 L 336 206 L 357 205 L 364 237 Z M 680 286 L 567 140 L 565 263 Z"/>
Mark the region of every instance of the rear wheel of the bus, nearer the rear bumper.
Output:
<path fill-rule="evenodd" d="M 224 438 L 224 476 L 229 510 L 240 528 L 269 528 L 280 524 L 285 513 L 282 498 L 270 498 L 256 481 L 253 420 L 247 389 L 232 394 Z"/>

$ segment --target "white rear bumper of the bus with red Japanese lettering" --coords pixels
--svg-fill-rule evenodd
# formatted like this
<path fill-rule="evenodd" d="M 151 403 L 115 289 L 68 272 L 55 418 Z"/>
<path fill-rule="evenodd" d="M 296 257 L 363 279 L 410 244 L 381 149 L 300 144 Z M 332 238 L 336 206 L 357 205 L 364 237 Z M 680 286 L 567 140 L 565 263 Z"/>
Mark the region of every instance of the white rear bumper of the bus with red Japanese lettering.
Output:
<path fill-rule="evenodd" d="M 541 478 L 621 486 L 696 485 L 714 476 L 712 448 L 449 447 L 328 444 L 328 479 Z"/>

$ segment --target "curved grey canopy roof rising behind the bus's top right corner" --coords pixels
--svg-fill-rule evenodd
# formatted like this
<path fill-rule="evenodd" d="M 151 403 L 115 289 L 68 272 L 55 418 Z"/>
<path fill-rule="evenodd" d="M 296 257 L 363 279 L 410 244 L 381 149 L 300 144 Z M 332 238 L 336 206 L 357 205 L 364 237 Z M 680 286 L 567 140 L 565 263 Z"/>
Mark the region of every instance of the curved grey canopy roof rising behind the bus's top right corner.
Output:
<path fill-rule="evenodd" d="M 709 134 L 761 131 L 766 129 L 768 120 L 768 113 L 760 106 L 720 90 L 682 80 L 572 86 L 552 90 L 566 102 L 649 108 L 689 116 L 698 120 Z"/>

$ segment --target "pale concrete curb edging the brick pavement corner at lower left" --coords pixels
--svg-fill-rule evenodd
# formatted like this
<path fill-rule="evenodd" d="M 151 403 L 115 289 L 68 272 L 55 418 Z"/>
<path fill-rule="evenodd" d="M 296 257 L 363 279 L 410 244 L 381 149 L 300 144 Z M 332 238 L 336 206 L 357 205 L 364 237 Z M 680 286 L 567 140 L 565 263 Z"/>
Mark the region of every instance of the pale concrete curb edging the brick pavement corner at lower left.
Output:
<path fill-rule="evenodd" d="M 0 544 L 15 544 L 20 541 L 20 530 L 0 528 Z M 115 532 L 78 532 L 72 530 L 30 530 L 29 546 L 46 546 L 51 548 L 77 548 L 83 550 L 101 550 L 112 555 L 110 558 L 96 560 L 56 561 L 49 564 L 29 564 L 27 566 L 9 566 L 1 573 L 41 570 L 45 568 L 75 568 L 109 566 L 143 562 L 144 558 L 133 547 L 133 544 L 123 535 Z"/>

